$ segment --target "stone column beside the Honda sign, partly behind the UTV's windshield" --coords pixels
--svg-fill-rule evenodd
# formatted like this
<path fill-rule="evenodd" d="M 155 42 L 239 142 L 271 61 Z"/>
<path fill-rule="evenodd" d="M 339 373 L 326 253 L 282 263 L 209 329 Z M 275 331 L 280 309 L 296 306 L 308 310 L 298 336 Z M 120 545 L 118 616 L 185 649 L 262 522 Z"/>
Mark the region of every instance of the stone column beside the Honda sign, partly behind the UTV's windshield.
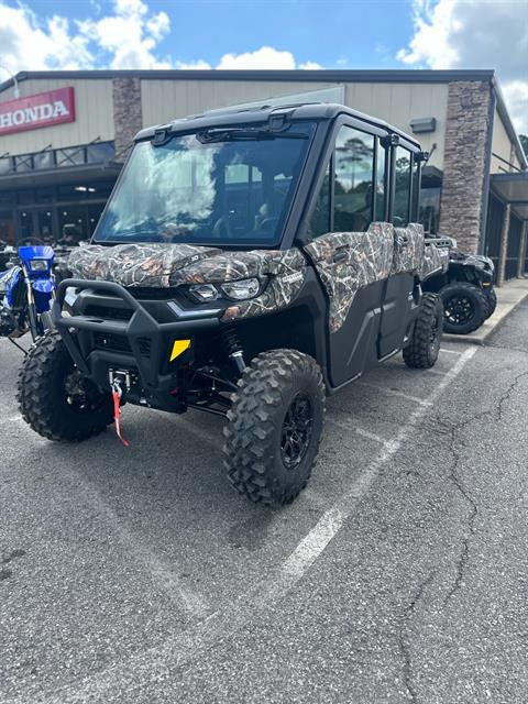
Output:
<path fill-rule="evenodd" d="M 123 163 L 135 134 L 143 127 L 141 111 L 141 80 L 139 78 L 113 78 L 113 125 L 116 157 Z"/>

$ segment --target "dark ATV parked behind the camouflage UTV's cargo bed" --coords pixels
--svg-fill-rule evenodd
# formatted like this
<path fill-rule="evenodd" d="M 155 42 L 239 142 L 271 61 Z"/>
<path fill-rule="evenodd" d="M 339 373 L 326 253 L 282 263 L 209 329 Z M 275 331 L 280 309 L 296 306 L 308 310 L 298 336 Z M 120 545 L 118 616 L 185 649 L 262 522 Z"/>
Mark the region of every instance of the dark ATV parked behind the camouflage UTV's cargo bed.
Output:
<path fill-rule="evenodd" d="M 494 274 L 494 264 L 487 256 L 450 251 L 448 271 L 425 284 L 425 290 L 442 297 L 446 332 L 473 332 L 495 311 Z"/>

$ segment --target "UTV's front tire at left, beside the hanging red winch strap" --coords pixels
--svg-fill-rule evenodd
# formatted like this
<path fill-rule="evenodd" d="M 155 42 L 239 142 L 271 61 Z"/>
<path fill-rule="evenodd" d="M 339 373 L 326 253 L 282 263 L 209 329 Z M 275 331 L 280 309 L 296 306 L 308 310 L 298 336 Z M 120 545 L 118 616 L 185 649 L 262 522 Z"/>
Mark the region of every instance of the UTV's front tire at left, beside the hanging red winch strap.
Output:
<path fill-rule="evenodd" d="M 82 377 L 56 330 L 24 358 L 16 399 L 25 422 L 48 440 L 80 442 L 113 420 L 111 394 Z"/>

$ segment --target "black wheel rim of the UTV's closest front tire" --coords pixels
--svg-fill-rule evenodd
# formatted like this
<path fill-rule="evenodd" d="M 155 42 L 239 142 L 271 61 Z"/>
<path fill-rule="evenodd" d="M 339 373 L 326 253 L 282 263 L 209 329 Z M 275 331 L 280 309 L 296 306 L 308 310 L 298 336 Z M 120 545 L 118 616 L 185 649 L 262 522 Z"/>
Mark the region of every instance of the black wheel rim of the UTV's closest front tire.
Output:
<path fill-rule="evenodd" d="M 314 408 L 308 396 L 298 394 L 284 417 L 280 457 L 287 470 L 295 470 L 305 459 L 314 431 Z"/>

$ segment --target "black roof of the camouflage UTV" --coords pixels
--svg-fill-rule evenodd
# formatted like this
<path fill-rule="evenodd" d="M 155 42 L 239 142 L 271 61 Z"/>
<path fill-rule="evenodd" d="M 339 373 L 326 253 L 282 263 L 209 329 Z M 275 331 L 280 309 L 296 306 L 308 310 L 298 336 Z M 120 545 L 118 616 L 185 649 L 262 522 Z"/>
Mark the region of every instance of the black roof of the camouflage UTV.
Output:
<path fill-rule="evenodd" d="M 252 124 L 252 123 L 265 123 L 271 122 L 273 119 L 280 119 L 282 116 L 287 117 L 288 120 L 318 120 L 318 121 L 331 121 L 338 116 L 345 114 L 361 120 L 367 124 L 386 130 L 395 134 L 399 134 L 407 142 L 410 142 L 417 150 L 420 150 L 420 144 L 413 136 L 406 134 L 402 130 L 392 127 L 384 120 L 373 118 L 369 114 L 353 110 L 346 106 L 326 102 L 308 102 L 298 103 L 292 106 L 262 106 L 262 107 L 233 107 L 226 108 L 224 110 L 212 110 L 211 112 L 204 112 L 202 114 L 190 116 L 188 118 L 180 118 L 173 120 L 165 124 L 158 124 L 156 127 L 146 128 L 141 130 L 135 135 L 135 141 L 143 141 L 153 139 L 156 133 L 179 133 L 179 132 L 195 132 L 197 130 L 205 130 L 208 128 L 222 128 L 233 127 L 238 124 Z"/>

